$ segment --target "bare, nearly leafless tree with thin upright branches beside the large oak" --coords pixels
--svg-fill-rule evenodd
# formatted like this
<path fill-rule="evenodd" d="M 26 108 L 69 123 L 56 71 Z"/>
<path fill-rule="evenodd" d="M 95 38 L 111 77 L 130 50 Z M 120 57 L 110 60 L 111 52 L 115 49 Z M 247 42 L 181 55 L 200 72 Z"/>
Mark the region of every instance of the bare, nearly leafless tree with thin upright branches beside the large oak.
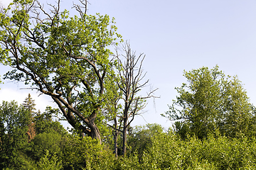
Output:
<path fill-rule="evenodd" d="M 143 82 L 146 75 L 142 70 L 145 55 L 140 54 L 137 57 L 136 52 L 132 51 L 129 42 L 125 43 L 123 51 L 124 55 L 119 55 L 117 50 L 117 75 L 114 76 L 115 83 L 119 88 L 117 91 L 122 93 L 121 96 L 114 98 L 114 106 L 116 106 L 114 110 L 117 111 L 117 103 L 121 101 L 122 113 L 121 115 L 115 114 L 114 126 L 111 127 L 114 129 L 114 152 L 117 154 L 117 136 L 119 132 L 122 132 L 122 154 L 125 155 L 127 150 L 127 128 L 134 120 L 134 116 L 139 115 L 139 112 L 146 106 L 146 99 L 156 98 L 153 94 L 157 89 L 149 91 L 146 96 L 139 95 L 139 91 L 142 91 L 149 83 L 149 79 Z M 118 122 L 119 128 L 117 128 Z"/>

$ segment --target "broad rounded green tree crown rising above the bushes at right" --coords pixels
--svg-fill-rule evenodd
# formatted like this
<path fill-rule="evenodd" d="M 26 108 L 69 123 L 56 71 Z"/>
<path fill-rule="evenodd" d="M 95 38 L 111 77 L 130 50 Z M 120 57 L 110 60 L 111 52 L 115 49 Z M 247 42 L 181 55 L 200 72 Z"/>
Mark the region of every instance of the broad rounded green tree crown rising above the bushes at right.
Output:
<path fill-rule="evenodd" d="M 230 137 L 247 133 L 254 112 L 237 77 L 225 77 L 218 66 L 193 69 L 183 76 L 188 84 L 176 88 L 178 96 L 164 114 L 180 121 L 175 123 L 178 134 L 203 139 L 215 130 Z"/>

